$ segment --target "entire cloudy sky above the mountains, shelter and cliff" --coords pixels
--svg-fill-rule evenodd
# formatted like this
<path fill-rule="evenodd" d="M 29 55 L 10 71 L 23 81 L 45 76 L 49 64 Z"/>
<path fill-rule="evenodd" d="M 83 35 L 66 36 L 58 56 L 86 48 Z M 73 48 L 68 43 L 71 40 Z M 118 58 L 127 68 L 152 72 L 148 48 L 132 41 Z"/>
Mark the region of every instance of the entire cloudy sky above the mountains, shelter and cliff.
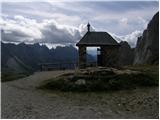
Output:
<path fill-rule="evenodd" d="M 50 1 L 1 3 L 1 38 L 5 42 L 67 45 L 80 40 L 86 24 L 134 47 L 159 10 L 158 1 Z"/>

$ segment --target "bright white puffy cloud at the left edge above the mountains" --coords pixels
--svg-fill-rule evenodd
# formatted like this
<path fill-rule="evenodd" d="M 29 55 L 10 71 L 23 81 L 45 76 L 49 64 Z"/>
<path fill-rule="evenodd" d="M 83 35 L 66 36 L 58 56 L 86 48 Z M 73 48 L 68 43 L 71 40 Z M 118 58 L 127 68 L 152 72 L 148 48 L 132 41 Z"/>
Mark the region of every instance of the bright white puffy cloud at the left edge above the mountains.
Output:
<path fill-rule="evenodd" d="M 36 27 L 36 21 L 15 16 L 14 20 L 0 21 L 1 37 L 4 41 L 10 42 L 31 42 L 34 39 L 42 38 L 40 29 Z"/>

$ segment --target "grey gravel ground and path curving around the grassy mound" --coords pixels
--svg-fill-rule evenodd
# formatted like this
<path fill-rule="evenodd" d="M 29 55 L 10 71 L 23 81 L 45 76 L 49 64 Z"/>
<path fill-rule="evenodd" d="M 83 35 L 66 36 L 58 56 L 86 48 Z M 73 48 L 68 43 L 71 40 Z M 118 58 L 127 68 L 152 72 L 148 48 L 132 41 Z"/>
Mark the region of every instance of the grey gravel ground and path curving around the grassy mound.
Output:
<path fill-rule="evenodd" d="M 44 80 L 69 71 L 37 72 L 2 83 L 2 118 L 158 118 L 158 87 L 115 92 L 39 90 Z"/>

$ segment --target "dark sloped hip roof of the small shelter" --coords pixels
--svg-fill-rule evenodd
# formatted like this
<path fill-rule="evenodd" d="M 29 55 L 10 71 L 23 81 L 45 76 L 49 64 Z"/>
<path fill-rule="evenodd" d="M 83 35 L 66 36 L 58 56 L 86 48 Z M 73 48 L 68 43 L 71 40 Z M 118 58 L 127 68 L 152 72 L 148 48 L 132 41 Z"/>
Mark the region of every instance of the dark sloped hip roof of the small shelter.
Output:
<path fill-rule="evenodd" d="M 107 32 L 87 32 L 76 46 L 119 46 Z"/>

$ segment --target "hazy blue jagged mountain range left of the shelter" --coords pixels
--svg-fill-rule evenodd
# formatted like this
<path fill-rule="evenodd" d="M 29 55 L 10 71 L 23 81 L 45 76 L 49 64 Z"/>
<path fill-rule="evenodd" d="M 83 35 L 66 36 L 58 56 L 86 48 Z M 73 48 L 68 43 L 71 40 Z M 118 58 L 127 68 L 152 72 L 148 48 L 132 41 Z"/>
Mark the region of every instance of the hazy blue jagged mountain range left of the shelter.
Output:
<path fill-rule="evenodd" d="M 38 43 L 33 45 L 1 43 L 1 53 L 2 72 L 37 71 L 40 69 L 40 63 L 76 63 L 78 61 L 78 51 L 73 46 L 49 49 Z M 90 60 L 94 59 L 91 55 L 87 56 Z"/>

